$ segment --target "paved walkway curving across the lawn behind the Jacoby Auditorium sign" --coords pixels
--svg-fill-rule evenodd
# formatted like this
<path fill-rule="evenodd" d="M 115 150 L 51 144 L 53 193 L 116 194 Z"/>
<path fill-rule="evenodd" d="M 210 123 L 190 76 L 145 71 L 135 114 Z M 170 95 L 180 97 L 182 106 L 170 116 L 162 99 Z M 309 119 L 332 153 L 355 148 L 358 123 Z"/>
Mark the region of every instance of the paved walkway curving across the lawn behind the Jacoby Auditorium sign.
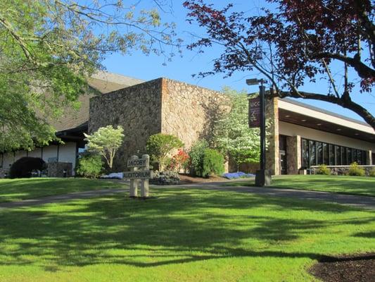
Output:
<path fill-rule="evenodd" d="M 122 182 L 122 181 L 121 181 Z M 238 180 L 236 181 L 238 182 Z M 124 181 L 127 183 L 127 181 Z M 352 207 L 360 207 L 364 209 L 375 209 L 375 197 L 366 197 L 360 195 L 345 195 L 330 192 L 318 192 L 311 190 L 295 190 L 295 189 L 283 189 L 283 188 L 260 188 L 260 187 L 248 187 L 248 186 L 224 186 L 228 184 L 226 182 L 212 182 L 212 183 L 200 183 L 200 184 L 188 184 L 188 185 L 176 185 L 176 186 L 154 186 L 151 185 L 151 193 L 155 188 L 198 188 L 207 190 L 228 190 L 236 192 L 248 192 L 257 195 L 267 195 L 272 197 L 288 197 L 300 200 L 320 200 L 325 202 L 332 202 L 337 204 L 345 204 Z M 75 192 L 66 195 L 57 195 L 42 197 L 33 200 L 23 200 L 20 202 L 9 202 L 0 204 L 0 209 L 12 208 L 12 207 L 30 207 L 39 204 L 49 204 L 53 202 L 66 202 L 69 200 L 86 199 L 90 197 L 99 197 L 103 195 L 113 195 L 116 193 L 128 193 L 128 189 L 106 189 L 106 190 L 93 190 L 86 192 Z"/>

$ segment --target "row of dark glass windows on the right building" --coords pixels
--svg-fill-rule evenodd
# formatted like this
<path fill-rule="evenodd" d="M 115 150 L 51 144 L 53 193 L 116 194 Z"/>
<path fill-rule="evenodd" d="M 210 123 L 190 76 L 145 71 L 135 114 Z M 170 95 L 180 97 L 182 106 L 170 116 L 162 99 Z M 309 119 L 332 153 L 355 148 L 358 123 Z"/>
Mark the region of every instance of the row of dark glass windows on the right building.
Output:
<path fill-rule="evenodd" d="M 319 164 L 326 164 L 327 166 L 349 165 L 354 161 L 357 164 L 367 164 L 367 154 L 364 150 L 307 139 L 301 140 L 301 147 L 303 168 L 319 166 Z"/>

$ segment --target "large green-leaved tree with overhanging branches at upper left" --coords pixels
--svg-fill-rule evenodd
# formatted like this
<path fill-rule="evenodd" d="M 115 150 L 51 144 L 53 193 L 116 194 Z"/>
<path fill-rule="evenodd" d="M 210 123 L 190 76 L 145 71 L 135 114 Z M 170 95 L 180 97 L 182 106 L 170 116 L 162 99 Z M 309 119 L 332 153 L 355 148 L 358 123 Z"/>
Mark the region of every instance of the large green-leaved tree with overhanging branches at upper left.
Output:
<path fill-rule="evenodd" d="M 170 59 L 179 40 L 154 0 L 0 1 L 0 151 L 55 139 L 51 118 L 78 106 L 87 77 L 113 52 L 135 49 Z M 170 47 L 170 48 L 169 48 Z"/>

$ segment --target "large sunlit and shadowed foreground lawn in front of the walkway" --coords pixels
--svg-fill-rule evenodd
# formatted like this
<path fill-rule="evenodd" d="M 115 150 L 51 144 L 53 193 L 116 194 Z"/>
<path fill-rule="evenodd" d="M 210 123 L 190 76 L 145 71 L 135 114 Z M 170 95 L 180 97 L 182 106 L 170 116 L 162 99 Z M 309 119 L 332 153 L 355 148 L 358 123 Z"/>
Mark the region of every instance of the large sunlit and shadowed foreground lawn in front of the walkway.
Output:
<path fill-rule="evenodd" d="M 315 281 L 322 255 L 375 251 L 375 212 L 153 188 L 0 210 L 0 281 Z"/>

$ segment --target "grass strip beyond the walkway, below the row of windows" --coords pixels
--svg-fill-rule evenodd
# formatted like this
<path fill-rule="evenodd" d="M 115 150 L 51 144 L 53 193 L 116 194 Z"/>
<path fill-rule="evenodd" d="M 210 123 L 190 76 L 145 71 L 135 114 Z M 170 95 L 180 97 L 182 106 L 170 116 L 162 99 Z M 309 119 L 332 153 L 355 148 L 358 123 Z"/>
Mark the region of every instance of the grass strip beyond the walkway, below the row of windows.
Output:
<path fill-rule="evenodd" d="M 228 186 L 253 186 L 254 180 L 228 183 Z M 272 187 L 315 190 L 375 197 L 375 178 L 360 176 L 274 176 Z"/>

